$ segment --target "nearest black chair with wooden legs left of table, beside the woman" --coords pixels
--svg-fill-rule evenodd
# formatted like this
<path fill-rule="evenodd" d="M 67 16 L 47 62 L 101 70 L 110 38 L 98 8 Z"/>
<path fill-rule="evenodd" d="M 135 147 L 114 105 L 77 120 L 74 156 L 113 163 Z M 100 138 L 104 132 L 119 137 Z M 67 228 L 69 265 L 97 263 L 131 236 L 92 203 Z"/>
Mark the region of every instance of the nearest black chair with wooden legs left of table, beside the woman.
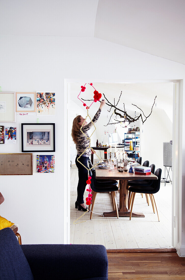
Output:
<path fill-rule="evenodd" d="M 92 211 L 94 208 L 94 202 L 96 199 L 97 193 L 100 192 L 110 192 L 113 200 L 113 209 L 116 210 L 117 218 L 119 218 L 118 215 L 118 208 L 117 208 L 117 200 L 116 200 L 116 194 L 115 191 L 118 190 L 118 187 L 115 185 L 108 185 L 104 183 L 96 184 L 94 181 L 94 169 L 89 170 L 89 176 L 91 176 L 91 189 L 92 189 L 92 205 L 89 205 L 89 210 L 91 206 L 91 214 L 90 214 L 90 220 L 92 219 Z M 95 185 L 96 184 L 96 185 Z"/>

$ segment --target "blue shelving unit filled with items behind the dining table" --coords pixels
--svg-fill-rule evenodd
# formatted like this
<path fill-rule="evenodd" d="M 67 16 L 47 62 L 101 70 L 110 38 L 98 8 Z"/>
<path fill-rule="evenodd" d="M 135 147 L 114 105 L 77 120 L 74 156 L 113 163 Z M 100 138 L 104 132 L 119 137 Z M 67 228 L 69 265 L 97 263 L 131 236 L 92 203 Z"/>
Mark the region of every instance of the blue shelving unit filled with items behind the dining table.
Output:
<path fill-rule="evenodd" d="M 129 137 L 126 137 L 126 135 L 129 135 Z M 132 141 L 133 150 L 130 150 L 130 141 Z M 126 142 L 129 142 L 129 143 L 126 143 Z M 129 150 L 127 150 L 128 147 L 129 147 Z M 138 151 L 136 151 L 136 147 L 139 147 Z M 138 152 L 140 152 L 140 132 L 139 131 L 124 134 L 124 148 L 125 148 L 125 151 L 127 152 L 127 155 L 129 158 L 135 158 L 135 160 L 138 158 Z M 135 150 L 134 150 L 134 148 L 135 148 Z"/>

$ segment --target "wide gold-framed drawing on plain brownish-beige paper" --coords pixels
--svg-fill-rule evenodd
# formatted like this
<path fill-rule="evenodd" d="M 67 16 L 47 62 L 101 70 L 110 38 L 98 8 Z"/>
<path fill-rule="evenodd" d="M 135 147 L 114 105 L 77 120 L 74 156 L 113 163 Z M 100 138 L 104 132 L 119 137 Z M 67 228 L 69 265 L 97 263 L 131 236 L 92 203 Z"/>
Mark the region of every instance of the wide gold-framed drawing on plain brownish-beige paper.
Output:
<path fill-rule="evenodd" d="M 33 175 L 32 153 L 0 153 L 0 175 Z"/>

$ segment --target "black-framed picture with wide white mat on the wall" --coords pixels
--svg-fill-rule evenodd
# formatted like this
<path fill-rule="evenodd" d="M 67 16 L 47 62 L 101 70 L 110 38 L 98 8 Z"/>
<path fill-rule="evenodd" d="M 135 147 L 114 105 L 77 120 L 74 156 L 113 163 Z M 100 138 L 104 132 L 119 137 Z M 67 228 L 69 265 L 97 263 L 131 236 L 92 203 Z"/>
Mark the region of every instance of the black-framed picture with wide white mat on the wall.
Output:
<path fill-rule="evenodd" d="M 22 152 L 55 152 L 54 123 L 21 123 Z"/>

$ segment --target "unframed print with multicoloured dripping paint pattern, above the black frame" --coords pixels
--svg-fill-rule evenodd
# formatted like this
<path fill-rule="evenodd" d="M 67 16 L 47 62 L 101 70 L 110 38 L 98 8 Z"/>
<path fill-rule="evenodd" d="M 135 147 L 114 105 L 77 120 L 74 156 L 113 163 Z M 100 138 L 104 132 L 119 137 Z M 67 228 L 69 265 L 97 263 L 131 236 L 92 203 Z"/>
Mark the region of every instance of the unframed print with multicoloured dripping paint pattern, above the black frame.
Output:
<path fill-rule="evenodd" d="M 55 115 L 55 92 L 37 92 L 37 115 Z"/>

